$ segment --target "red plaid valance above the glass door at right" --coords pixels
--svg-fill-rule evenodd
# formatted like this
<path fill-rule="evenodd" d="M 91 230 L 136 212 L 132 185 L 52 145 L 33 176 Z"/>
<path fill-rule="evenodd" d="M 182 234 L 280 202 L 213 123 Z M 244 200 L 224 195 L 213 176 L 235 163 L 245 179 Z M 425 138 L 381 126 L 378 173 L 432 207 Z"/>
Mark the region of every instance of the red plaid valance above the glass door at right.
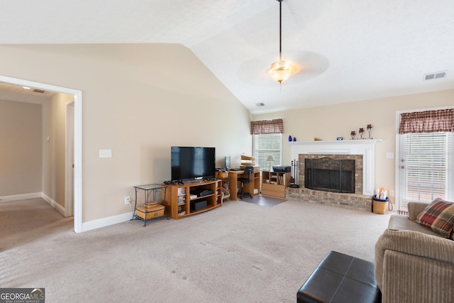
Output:
<path fill-rule="evenodd" d="M 454 132 L 454 109 L 400 115 L 399 134 Z"/>

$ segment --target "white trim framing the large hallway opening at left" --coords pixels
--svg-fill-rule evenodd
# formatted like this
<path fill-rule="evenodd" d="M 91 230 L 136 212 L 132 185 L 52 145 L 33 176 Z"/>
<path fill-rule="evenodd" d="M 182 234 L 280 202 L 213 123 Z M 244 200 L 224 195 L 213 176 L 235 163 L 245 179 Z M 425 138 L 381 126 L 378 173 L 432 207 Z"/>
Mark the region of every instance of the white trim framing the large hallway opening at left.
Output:
<path fill-rule="evenodd" d="M 74 96 L 74 232 L 82 233 L 82 91 L 3 75 L 0 82 Z"/>

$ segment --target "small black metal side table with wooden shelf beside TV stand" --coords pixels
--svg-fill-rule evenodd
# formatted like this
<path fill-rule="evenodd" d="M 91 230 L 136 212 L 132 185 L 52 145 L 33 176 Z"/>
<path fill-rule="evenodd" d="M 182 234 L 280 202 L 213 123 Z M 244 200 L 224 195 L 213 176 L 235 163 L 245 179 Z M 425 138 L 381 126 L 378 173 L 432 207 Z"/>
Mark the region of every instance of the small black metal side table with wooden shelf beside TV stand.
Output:
<path fill-rule="evenodd" d="M 165 192 L 167 190 L 167 186 L 162 184 L 145 184 L 145 185 L 138 185 L 134 187 L 135 189 L 135 206 L 134 206 L 134 213 L 133 219 L 138 219 L 143 221 L 143 226 L 147 225 L 147 220 L 159 218 L 160 216 L 166 216 L 167 220 L 169 220 L 169 216 L 167 216 L 167 212 L 165 211 Z M 137 193 L 139 190 L 143 190 L 145 194 L 145 202 L 143 206 L 137 206 Z M 153 193 L 153 202 L 156 202 L 156 193 L 162 191 L 164 194 L 164 199 L 161 199 L 161 204 L 151 204 L 150 201 L 150 194 Z M 164 203 L 164 204 L 162 204 Z M 140 214 L 138 214 L 138 212 Z"/>

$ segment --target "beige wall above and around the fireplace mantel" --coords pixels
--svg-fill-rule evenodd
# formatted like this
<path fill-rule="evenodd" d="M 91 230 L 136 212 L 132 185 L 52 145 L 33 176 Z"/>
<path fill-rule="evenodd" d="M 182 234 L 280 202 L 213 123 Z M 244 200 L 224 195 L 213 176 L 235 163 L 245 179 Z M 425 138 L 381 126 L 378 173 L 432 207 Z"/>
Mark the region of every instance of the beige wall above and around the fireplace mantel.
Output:
<path fill-rule="evenodd" d="M 395 159 L 387 159 L 386 153 L 396 150 L 397 111 L 444 106 L 454 106 L 454 90 L 255 115 L 253 120 L 284 120 L 283 165 L 290 165 L 293 160 L 290 159 L 291 148 L 286 144 L 289 135 L 297 137 L 297 141 L 313 141 L 314 137 L 335 141 L 338 136 L 348 140 L 350 131 L 358 134 L 360 127 L 372 124 L 372 137 L 383 140 L 375 145 L 375 187 L 394 189 Z M 367 131 L 363 136 L 367 138 Z"/>

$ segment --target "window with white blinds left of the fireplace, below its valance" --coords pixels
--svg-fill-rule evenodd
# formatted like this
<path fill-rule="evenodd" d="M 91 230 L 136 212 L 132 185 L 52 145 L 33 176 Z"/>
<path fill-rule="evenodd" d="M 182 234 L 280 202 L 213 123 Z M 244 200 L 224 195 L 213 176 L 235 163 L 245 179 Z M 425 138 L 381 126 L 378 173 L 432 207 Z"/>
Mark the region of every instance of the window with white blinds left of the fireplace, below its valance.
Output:
<path fill-rule="evenodd" d="M 254 135 L 255 164 L 260 166 L 260 170 L 270 169 L 270 162 L 267 161 L 269 155 L 271 155 L 274 160 L 271 162 L 271 165 L 281 165 L 282 163 L 281 133 Z"/>

